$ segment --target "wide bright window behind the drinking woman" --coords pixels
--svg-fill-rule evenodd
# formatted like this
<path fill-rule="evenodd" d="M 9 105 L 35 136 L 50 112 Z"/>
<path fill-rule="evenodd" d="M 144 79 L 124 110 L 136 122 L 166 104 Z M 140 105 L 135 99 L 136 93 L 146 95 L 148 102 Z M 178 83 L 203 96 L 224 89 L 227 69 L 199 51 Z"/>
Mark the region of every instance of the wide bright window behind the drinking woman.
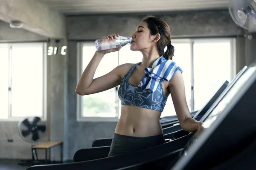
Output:
<path fill-rule="evenodd" d="M 233 41 L 233 39 L 172 40 L 172 45 L 175 47 L 173 61 L 183 70 L 189 111 L 200 110 L 224 80 L 230 81 L 233 78 L 235 71 L 232 69 L 232 64 L 235 64 L 233 61 L 235 57 L 232 57 L 231 53 Z M 212 52 L 214 49 L 218 49 L 218 52 Z M 95 51 L 95 44 L 92 42 L 78 44 L 78 80 Z M 140 61 L 142 54 L 139 51 L 131 51 L 129 44 L 125 45 L 120 51 L 105 55 L 94 78 L 107 74 L 118 65 Z M 87 96 L 78 95 L 78 120 L 117 121 L 121 113 L 118 88 Z M 173 115 L 176 115 L 176 112 L 172 96 L 169 95 L 161 117 Z"/>

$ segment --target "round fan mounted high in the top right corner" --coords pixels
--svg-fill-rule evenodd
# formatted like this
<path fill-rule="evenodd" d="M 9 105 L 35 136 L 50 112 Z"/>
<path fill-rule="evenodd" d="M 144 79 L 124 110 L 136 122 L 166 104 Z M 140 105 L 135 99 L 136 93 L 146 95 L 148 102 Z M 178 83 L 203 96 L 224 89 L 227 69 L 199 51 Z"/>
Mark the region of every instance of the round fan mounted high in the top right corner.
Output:
<path fill-rule="evenodd" d="M 256 0 L 230 0 L 228 9 L 237 25 L 256 31 Z"/>

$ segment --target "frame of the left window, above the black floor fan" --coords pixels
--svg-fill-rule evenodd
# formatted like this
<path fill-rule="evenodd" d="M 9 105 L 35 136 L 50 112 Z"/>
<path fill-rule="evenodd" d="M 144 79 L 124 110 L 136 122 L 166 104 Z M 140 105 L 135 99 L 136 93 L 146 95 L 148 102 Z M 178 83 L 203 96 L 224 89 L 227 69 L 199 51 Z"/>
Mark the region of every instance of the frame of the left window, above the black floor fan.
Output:
<path fill-rule="evenodd" d="M 9 75 L 8 75 L 8 86 L 9 88 L 11 87 L 11 81 L 12 81 L 12 76 L 10 75 L 11 72 L 11 55 L 12 55 L 12 48 L 13 47 L 42 47 L 42 54 L 43 54 L 43 115 L 41 116 L 45 120 L 47 120 L 47 43 L 46 42 L 14 42 L 14 43 L 0 43 L 0 48 L 8 48 L 8 58 L 9 58 Z M 13 117 L 11 113 L 11 93 L 12 93 L 12 88 L 11 90 L 8 91 L 8 117 L 7 119 L 0 119 L 0 122 L 16 122 L 16 121 L 21 121 L 27 116 L 21 116 L 21 117 Z M 31 116 L 30 116 L 31 117 Z"/>

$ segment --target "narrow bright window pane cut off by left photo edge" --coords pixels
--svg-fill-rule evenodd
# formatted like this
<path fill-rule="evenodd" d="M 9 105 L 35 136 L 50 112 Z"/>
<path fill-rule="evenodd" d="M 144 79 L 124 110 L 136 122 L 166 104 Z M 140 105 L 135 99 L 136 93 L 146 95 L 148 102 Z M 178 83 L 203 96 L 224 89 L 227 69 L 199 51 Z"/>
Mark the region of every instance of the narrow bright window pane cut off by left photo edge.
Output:
<path fill-rule="evenodd" d="M 8 118 L 8 48 L 0 48 L 0 119 Z"/>

